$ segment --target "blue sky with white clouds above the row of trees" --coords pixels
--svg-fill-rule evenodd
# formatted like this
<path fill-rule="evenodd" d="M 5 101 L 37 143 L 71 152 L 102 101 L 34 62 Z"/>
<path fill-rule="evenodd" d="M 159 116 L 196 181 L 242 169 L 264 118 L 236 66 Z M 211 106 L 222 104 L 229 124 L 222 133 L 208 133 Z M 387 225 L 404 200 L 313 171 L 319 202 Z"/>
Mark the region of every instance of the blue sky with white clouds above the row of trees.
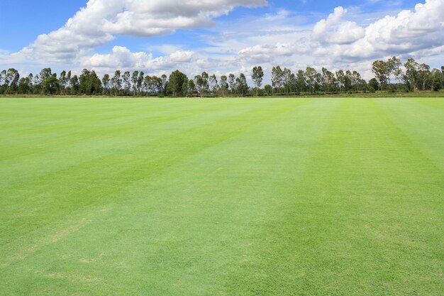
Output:
<path fill-rule="evenodd" d="M 444 65 L 444 0 L 2 0 L 0 69 L 216 75 Z"/>

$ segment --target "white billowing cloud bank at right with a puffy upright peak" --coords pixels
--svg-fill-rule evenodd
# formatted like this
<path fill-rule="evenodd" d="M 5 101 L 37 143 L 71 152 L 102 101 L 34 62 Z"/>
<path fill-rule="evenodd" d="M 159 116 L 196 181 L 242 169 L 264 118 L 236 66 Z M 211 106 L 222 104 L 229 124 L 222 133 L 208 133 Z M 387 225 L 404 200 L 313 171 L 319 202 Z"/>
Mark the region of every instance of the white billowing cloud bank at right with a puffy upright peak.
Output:
<path fill-rule="evenodd" d="M 282 55 L 311 53 L 330 65 L 390 55 L 438 55 L 444 44 L 444 1 L 426 0 L 414 11 L 400 11 L 365 27 L 345 20 L 347 9 L 337 7 L 318 21 L 309 38 L 294 43 L 255 45 L 240 50 L 251 60 L 267 61 Z"/>

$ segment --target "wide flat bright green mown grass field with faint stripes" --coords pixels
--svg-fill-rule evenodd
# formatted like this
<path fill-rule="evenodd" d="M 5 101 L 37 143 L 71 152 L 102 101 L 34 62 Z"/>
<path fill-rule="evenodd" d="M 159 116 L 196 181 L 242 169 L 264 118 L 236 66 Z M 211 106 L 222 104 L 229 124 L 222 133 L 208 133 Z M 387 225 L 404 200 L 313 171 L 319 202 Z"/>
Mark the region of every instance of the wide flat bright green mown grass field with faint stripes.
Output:
<path fill-rule="evenodd" d="M 0 99 L 0 295 L 443 295 L 444 99 Z"/>

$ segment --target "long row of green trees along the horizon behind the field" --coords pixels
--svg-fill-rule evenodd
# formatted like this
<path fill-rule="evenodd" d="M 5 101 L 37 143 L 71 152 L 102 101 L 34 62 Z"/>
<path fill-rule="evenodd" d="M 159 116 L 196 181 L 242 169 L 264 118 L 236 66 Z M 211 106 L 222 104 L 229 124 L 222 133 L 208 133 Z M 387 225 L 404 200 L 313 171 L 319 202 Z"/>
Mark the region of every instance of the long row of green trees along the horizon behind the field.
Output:
<path fill-rule="evenodd" d="M 190 79 L 176 70 L 169 76 L 145 75 L 143 71 L 121 72 L 99 77 L 94 70 L 84 69 L 80 75 L 62 71 L 59 75 L 50 68 L 40 73 L 20 77 L 16 69 L 0 72 L 0 94 L 46 95 L 106 95 L 106 96 L 272 96 L 300 94 L 340 94 L 355 92 L 410 92 L 437 91 L 443 88 L 444 67 L 433 69 L 409 59 L 402 67 L 398 57 L 372 63 L 374 78 L 368 82 L 355 70 L 321 71 L 313 67 L 292 70 L 280 66 L 272 68 L 271 84 L 262 87 L 262 67 L 252 68 L 252 86 L 245 74 L 209 75 L 202 72 Z"/>

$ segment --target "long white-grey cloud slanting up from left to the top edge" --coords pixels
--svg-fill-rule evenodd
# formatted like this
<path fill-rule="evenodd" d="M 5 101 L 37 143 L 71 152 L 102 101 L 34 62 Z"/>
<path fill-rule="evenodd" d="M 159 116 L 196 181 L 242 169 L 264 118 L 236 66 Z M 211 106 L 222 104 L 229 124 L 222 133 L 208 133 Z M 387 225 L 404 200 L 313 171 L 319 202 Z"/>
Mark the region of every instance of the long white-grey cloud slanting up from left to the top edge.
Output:
<path fill-rule="evenodd" d="M 266 0 L 89 0 L 65 26 L 38 38 L 16 57 L 43 62 L 74 62 L 116 35 L 153 36 L 177 29 L 210 26 L 236 6 Z"/>

